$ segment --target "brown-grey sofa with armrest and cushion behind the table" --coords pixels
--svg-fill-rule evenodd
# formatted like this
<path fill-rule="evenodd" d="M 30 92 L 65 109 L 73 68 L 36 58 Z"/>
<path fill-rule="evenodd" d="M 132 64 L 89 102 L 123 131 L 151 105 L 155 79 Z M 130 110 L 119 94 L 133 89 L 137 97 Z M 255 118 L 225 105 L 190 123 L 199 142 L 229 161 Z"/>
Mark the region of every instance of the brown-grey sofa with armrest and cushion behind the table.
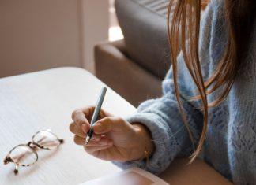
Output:
<path fill-rule="evenodd" d="M 95 47 L 96 76 L 132 105 L 161 95 L 170 68 L 168 0 L 116 0 L 124 39 Z"/>

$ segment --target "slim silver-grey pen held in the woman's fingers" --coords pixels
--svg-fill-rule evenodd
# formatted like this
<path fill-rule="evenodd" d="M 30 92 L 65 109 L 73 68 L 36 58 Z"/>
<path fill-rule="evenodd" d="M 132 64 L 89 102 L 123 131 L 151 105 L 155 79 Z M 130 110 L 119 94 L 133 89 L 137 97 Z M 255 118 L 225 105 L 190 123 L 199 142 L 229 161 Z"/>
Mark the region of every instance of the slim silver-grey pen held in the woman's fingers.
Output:
<path fill-rule="evenodd" d="M 107 91 L 106 87 L 103 87 L 101 89 L 101 91 L 100 91 L 100 97 L 98 98 L 98 102 L 96 104 L 96 108 L 94 109 L 94 112 L 92 114 L 91 128 L 90 128 L 90 130 L 88 131 L 88 133 L 86 135 L 85 145 L 87 145 L 88 142 L 90 141 L 90 139 L 92 138 L 92 134 L 93 134 L 92 126 L 96 122 L 97 117 L 99 116 L 101 105 L 102 105 L 102 103 L 104 101 L 104 97 L 105 97 L 106 91 Z"/>

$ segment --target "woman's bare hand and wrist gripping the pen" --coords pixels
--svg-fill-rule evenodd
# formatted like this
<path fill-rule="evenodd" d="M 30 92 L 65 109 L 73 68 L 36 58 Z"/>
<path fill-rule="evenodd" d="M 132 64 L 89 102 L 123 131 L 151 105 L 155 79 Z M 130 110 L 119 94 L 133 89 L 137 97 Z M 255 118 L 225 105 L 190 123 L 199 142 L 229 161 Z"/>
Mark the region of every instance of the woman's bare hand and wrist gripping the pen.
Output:
<path fill-rule="evenodd" d="M 152 154 L 154 150 L 151 136 L 142 124 L 130 124 L 119 117 L 100 111 L 93 125 L 93 135 L 85 145 L 85 136 L 90 129 L 94 107 L 73 112 L 70 131 L 75 134 L 74 142 L 84 146 L 88 154 L 108 161 L 132 161 L 144 157 L 145 150 Z"/>

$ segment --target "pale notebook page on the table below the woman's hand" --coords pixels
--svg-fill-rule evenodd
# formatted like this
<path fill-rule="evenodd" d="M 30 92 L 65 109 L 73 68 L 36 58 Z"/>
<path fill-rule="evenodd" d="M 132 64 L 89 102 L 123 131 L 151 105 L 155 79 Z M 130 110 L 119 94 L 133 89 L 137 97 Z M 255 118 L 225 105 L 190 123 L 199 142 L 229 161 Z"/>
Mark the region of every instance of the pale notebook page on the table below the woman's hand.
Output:
<path fill-rule="evenodd" d="M 80 185 L 168 185 L 164 180 L 140 168 L 130 168 Z"/>

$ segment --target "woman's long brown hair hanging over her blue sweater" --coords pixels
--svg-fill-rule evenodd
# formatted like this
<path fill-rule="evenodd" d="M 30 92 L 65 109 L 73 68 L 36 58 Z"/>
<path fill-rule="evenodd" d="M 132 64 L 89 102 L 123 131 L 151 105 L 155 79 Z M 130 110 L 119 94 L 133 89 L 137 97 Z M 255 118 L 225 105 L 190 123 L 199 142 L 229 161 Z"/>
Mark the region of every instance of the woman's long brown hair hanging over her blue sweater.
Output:
<path fill-rule="evenodd" d="M 202 112 L 204 123 L 198 145 L 191 155 L 190 162 L 198 156 L 205 141 L 208 123 L 209 107 L 218 105 L 227 97 L 239 66 L 245 53 L 251 17 L 255 7 L 254 1 L 250 0 L 223 0 L 225 22 L 227 25 L 228 38 L 224 54 L 218 61 L 215 72 L 204 81 L 201 72 L 201 62 L 199 60 L 199 28 L 201 20 L 201 10 L 208 4 L 208 0 L 171 0 L 168 6 L 168 37 L 171 49 L 171 64 L 173 70 L 173 80 L 175 94 L 179 104 L 180 113 L 186 129 L 193 141 L 193 135 L 183 111 L 179 93 L 177 78 L 177 59 L 179 52 L 183 53 L 186 68 L 190 72 L 191 78 L 198 88 L 198 95 L 192 99 L 200 99 L 202 102 Z M 171 13 L 172 12 L 172 13 Z M 209 88 L 211 87 L 211 88 Z M 207 101 L 207 95 L 221 88 L 221 93 L 213 102 Z"/>

